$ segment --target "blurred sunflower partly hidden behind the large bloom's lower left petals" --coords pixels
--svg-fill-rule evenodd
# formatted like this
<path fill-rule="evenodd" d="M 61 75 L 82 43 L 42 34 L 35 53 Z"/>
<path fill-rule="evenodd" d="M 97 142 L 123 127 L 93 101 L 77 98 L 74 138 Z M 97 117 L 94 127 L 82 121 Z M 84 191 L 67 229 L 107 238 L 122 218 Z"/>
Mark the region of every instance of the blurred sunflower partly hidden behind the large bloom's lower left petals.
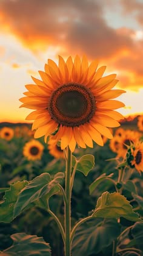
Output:
<path fill-rule="evenodd" d="M 65 158 L 64 152 L 61 149 L 61 147 L 58 146 L 58 144 L 55 144 L 55 143 L 53 144 L 53 141 L 51 138 L 48 140 L 48 150 L 49 150 L 49 153 L 53 155 L 53 157 L 55 158 Z"/>

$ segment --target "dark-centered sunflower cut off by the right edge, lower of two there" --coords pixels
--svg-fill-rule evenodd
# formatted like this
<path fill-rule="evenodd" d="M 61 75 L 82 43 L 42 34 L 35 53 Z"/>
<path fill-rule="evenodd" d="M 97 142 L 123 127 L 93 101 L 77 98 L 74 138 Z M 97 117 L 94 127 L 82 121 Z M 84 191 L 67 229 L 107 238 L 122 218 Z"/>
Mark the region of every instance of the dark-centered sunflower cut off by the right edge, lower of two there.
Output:
<path fill-rule="evenodd" d="M 132 168 L 141 173 L 143 171 L 143 143 L 141 141 L 131 145 L 127 152 L 127 162 Z"/>

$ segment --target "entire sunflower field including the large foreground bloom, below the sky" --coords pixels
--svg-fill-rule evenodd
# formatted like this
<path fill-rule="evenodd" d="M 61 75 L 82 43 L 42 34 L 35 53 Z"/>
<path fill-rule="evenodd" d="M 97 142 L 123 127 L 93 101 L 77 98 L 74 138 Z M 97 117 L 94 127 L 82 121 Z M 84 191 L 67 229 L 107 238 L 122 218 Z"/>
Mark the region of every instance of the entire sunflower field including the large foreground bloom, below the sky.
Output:
<path fill-rule="evenodd" d="M 142 255 L 143 117 L 105 69 L 48 59 L 19 99 L 32 127 L 1 127 L 2 255 Z"/>

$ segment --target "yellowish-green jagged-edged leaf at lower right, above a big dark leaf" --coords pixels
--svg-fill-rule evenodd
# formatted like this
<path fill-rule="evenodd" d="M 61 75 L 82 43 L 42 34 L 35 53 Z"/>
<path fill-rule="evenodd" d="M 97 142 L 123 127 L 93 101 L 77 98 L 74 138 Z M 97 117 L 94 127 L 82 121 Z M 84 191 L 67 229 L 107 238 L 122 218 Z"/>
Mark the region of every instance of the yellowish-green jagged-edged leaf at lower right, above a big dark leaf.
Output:
<path fill-rule="evenodd" d="M 104 192 L 99 197 L 95 212 L 92 216 L 100 218 L 124 217 L 130 221 L 141 221 L 138 213 L 133 212 L 130 202 L 120 193 Z"/>

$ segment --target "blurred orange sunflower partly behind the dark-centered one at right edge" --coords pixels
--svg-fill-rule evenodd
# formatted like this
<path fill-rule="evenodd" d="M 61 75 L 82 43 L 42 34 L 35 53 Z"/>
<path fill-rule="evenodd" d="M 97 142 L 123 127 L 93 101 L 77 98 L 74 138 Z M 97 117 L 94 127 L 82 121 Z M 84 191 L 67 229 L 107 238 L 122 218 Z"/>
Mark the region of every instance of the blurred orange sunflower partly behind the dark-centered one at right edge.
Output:
<path fill-rule="evenodd" d="M 124 135 L 120 137 L 120 143 L 118 148 L 118 156 L 125 157 L 128 146 L 135 144 L 139 140 L 140 133 L 133 130 L 124 130 Z"/>

